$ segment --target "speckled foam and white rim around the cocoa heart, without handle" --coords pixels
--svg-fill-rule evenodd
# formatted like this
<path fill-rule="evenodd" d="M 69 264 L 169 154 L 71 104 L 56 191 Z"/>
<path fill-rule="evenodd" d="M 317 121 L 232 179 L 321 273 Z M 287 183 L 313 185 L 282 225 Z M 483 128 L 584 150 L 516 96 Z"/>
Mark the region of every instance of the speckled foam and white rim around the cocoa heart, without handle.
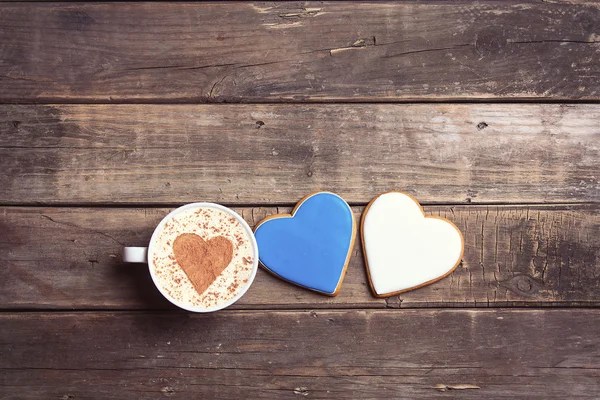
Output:
<path fill-rule="evenodd" d="M 201 294 L 174 256 L 174 239 L 189 233 L 206 241 L 224 236 L 233 245 L 230 263 Z M 220 204 L 191 203 L 173 210 L 157 225 L 148 246 L 148 268 L 171 303 L 188 311 L 212 312 L 229 307 L 250 288 L 258 269 L 258 246 L 252 229 L 235 211 Z"/>

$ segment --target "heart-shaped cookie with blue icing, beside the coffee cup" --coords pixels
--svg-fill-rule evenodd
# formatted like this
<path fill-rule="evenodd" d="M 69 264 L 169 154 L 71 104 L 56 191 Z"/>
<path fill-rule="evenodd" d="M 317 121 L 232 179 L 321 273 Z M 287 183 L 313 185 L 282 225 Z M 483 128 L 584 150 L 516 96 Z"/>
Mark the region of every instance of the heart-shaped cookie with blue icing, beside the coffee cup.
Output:
<path fill-rule="evenodd" d="M 346 264 L 354 219 L 348 204 L 333 193 L 316 193 L 293 217 L 260 224 L 254 235 L 260 262 L 290 282 L 333 294 Z"/>

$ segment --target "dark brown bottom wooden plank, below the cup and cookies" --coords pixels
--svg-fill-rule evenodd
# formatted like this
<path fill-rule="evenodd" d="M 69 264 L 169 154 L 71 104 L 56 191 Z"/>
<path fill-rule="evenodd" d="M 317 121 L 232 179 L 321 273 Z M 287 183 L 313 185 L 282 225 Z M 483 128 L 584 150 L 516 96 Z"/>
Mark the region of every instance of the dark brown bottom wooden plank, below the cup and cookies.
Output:
<path fill-rule="evenodd" d="M 3 313 L 0 395 L 595 399 L 599 317 L 599 310 Z M 439 384 L 480 389 L 440 392 Z"/>

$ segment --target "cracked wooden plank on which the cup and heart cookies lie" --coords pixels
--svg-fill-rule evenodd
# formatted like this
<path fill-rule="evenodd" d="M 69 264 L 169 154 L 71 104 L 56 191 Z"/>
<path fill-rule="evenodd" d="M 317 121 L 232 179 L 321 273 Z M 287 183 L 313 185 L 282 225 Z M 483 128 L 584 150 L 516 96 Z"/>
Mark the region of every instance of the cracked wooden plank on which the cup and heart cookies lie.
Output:
<path fill-rule="evenodd" d="M 426 207 L 465 236 L 448 278 L 388 299 L 371 295 L 360 240 L 331 298 L 259 271 L 239 309 L 600 305 L 600 206 Z M 0 209 L 0 304 L 5 309 L 164 309 L 147 267 L 124 265 L 169 209 Z M 238 208 L 253 226 L 289 208 Z M 357 218 L 361 207 L 355 208 Z"/>

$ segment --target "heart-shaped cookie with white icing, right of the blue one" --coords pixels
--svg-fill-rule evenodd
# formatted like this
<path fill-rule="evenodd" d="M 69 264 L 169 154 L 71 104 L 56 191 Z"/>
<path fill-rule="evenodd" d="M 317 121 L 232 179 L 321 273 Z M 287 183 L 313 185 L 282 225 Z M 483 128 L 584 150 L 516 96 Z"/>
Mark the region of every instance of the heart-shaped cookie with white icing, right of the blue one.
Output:
<path fill-rule="evenodd" d="M 464 240 L 441 217 L 425 217 L 412 197 L 388 192 L 373 199 L 363 214 L 362 241 L 371 288 L 392 296 L 433 283 L 460 263 Z"/>

